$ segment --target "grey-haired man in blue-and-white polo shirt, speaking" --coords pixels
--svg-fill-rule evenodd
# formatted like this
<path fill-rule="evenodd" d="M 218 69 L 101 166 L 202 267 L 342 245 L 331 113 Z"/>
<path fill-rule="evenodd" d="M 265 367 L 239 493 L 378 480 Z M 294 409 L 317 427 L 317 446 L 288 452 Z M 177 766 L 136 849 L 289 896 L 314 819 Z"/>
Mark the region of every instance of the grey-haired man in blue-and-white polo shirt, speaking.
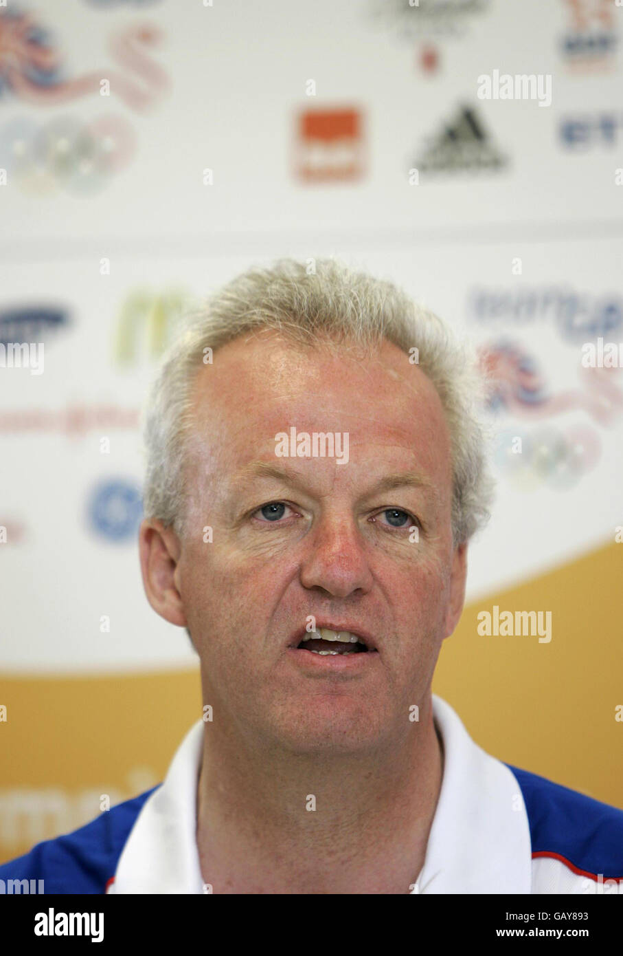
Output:
<path fill-rule="evenodd" d="M 394 286 L 285 260 L 218 293 L 149 402 L 147 597 L 200 659 L 160 787 L 0 868 L 46 892 L 584 893 L 623 812 L 433 698 L 490 483 L 473 360 Z"/>

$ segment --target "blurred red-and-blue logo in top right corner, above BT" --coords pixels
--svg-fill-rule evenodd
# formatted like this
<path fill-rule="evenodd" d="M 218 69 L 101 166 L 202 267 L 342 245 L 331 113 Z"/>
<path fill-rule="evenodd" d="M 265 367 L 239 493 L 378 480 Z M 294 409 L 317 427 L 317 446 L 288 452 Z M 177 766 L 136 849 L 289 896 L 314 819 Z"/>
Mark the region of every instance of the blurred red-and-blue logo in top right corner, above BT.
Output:
<path fill-rule="evenodd" d="M 618 48 L 613 0 L 563 0 L 569 28 L 560 49 L 572 70 L 610 68 Z"/>

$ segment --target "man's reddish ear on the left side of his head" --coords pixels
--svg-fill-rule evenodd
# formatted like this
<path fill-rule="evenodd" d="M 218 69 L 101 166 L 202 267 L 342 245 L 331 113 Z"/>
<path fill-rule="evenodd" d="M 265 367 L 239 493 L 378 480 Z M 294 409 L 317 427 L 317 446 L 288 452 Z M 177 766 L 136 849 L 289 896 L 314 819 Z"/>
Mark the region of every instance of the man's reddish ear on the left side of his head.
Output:
<path fill-rule="evenodd" d="M 161 618 L 179 627 L 186 627 L 186 615 L 177 590 L 177 561 L 181 553 L 179 538 L 173 528 L 161 521 L 141 522 L 138 551 L 143 587 L 147 599 Z"/>

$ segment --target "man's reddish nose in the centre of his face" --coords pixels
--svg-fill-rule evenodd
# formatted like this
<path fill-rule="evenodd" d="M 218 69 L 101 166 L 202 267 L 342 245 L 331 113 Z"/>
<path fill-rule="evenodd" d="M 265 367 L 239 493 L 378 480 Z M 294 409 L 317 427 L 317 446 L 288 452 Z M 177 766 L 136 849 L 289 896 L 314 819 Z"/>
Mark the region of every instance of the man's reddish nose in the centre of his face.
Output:
<path fill-rule="evenodd" d="M 350 516 L 324 515 L 306 537 L 301 562 L 301 584 L 322 588 L 333 597 L 348 597 L 372 586 L 365 541 Z"/>

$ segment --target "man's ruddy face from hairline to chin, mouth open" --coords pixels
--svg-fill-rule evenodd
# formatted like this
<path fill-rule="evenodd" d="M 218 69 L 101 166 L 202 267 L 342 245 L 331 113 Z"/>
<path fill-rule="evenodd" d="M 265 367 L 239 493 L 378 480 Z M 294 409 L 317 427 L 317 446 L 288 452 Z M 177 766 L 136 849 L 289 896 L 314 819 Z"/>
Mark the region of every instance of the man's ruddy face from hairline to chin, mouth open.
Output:
<path fill-rule="evenodd" d="M 426 700 L 465 584 L 434 387 L 389 342 L 356 357 L 262 332 L 218 350 L 195 399 L 175 581 L 204 703 L 239 733 L 296 752 L 396 741 L 413 727 L 409 707 Z M 347 433 L 347 464 L 278 457 L 276 436 L 291 427 Z M 258 462 L 290 477 L 253 475 Z M 406 473 L 418 483 L 377 489 Z M 363 631 L 376 651 L 297 650 L 309 616 Z"/>

